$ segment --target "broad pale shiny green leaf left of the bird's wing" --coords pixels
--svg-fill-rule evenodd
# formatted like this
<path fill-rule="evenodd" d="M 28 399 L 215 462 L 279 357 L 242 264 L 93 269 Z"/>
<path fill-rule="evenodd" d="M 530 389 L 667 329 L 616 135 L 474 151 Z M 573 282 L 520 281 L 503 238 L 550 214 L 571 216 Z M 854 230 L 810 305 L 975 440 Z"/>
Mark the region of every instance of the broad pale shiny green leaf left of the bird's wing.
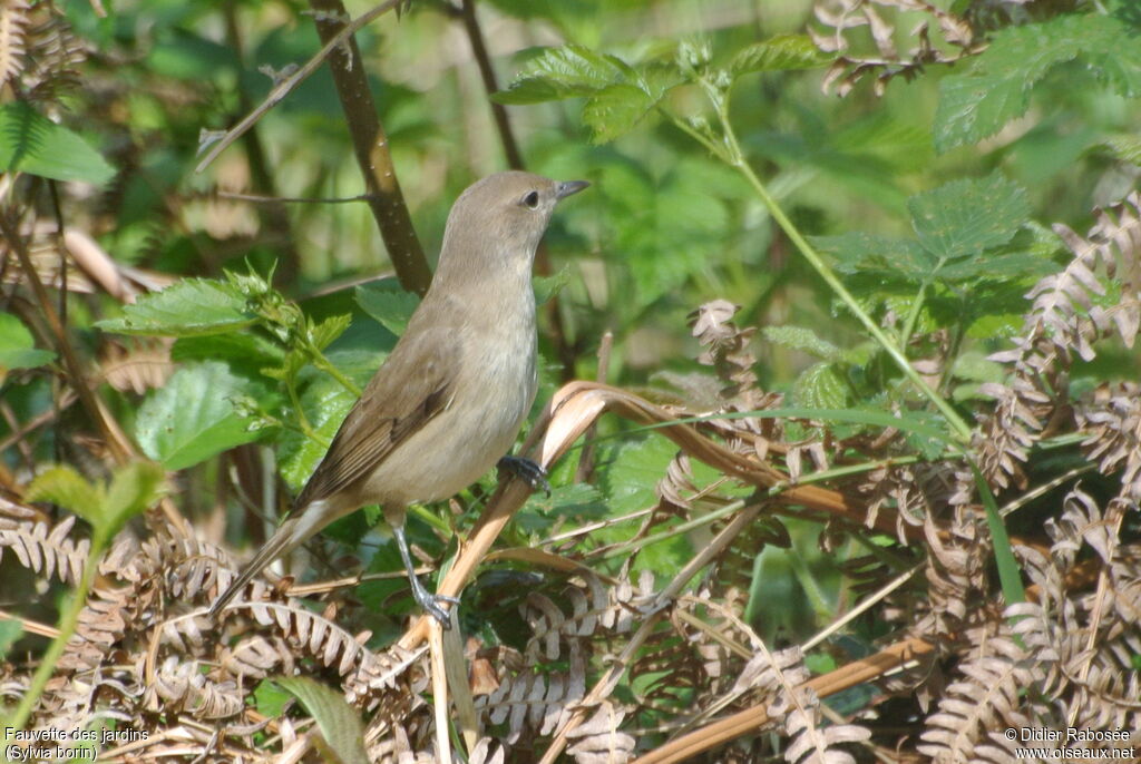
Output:
<path fill-rule="evenodd" d="M 168 470 L 181 470 L 257 440 L 260 432 L 251 431 L 230 400 L 250 395 L 251 389 L 225 364 L 185 366 L 143 401 L 135 437 L 143 453 Z"/>

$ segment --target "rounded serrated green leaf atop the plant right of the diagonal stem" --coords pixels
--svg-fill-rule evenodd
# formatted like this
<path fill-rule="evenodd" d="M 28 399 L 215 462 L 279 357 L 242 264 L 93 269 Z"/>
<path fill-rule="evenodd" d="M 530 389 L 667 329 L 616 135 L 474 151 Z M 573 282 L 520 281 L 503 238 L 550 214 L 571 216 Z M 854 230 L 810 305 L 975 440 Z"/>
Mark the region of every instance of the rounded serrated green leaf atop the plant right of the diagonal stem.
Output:
<path fill-rule="evenodd" d="M 953 180 L 907 201 L 920 244 L 937 258 L 978 255 L 1013 238 L 1030 214 L 1026 192 L 1001 174 Z"/>

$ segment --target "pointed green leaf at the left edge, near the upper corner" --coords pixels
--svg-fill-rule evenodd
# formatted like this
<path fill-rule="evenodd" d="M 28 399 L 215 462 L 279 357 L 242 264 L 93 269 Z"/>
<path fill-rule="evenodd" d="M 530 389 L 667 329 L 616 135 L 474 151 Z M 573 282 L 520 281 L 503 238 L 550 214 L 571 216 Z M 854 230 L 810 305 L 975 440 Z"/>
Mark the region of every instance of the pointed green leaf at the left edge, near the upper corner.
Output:
<path fill-rule="evenodd" d="M 0 171 L 102 186 L 115 169 L 67 128 L 24 101 L 0 106 Z"/>

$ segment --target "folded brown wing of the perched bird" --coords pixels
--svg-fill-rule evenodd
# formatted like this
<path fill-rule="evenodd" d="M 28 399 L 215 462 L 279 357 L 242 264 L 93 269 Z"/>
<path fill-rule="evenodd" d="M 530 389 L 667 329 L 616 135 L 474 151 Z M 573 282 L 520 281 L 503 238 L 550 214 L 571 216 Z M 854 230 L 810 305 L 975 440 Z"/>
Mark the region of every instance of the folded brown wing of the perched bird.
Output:
<path fill-rule="evenodd" d="M 446 409 L 459 360 L 460 342 L 452 330 L 402 339 L 345 417 L 290 514 L 367 478 L 393 449 Z"/>

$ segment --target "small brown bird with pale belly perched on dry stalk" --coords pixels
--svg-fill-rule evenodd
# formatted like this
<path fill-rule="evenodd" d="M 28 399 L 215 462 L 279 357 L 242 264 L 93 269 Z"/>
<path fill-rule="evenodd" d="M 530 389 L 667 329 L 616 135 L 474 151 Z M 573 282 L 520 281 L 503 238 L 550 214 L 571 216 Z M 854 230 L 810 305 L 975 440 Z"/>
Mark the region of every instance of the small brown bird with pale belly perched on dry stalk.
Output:
<path fill-rule="evenodd" d="M 406 507 L 447 498 L 511 447 L 535 399 L 535 247 L 556 203 L 589 184 L 500 172 L 452 206 L 439 265 L 407 330 L 345 417 L 329 453 L 273 537 L 210 608 L 217 615 L 262 568 L 327 526 L 379 504 L 412 593 L 450 624 L 416 578 Z M 532 481 L 542 470 L 507 457 Z"/>

